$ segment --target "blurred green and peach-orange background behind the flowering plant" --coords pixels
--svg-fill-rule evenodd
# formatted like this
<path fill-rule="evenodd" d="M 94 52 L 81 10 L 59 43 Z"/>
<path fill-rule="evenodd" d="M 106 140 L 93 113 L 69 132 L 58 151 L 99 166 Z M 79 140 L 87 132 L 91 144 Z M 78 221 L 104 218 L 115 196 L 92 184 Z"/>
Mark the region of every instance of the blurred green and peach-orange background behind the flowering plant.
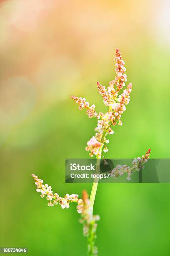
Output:
<path fill-rule="evenodd" d="M 65 184 L 65 158 L 87 158 L 96 120 L 70 95 L 105 111 L 96 82 L 115 76 L 120 48 L 133 83 L 107 158 L 148 148 L 170 157 L 170 2 L 166 0 L 0 1 L 1 246 L 29 255 L 86 255 L 76 205 L 47 207 L 34 173 L 64 196 L 92 184 Z M 170 184 L 99 184 L 94 213 L 99 255 L 170 255 Z"/>

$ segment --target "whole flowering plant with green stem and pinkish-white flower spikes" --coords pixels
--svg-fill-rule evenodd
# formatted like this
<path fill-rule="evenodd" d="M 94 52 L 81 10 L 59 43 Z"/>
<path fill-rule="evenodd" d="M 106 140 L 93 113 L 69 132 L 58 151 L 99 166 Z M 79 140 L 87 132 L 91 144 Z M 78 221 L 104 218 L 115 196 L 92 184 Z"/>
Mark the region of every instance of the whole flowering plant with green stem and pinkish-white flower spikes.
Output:
<path fill-rule="evenodd" d="M 127 87 L 120 93 L 121 89 L 125 87 L 127 81 L 127 75 L 125 74 L 125 62 L 122 60 L 119 49 L 116 49 L 115 54 L 115 79 L 109 83 L 106 88 L 97 82 L 97 89 L 103 98 L 104 104 L 108 107 L 106 113 L 95 110 L 95 105 L 90 106 L 89 102 L 85 98 L 71 96 L 73 100 L 79 105 L 79 109 L 85 109 L 89 118 L 97 118 L 97 127 L 95 128 L 95 136 L 92 136 L 87 142 L 85 148 L 86 151 L 90 152 L 89 155 L 96 156 L 97 158 L 97 172 L 100 171 L 100 159 L 102 156 L 102 150 L 106 153 L 108 148 L 106 146 L 109 140 L 106 139 L 107 134 L 114 134 L 112 126 L 116 124 L 122 125 L 121 116 L 126 110 L 126 105 L 130 102 L 130 92 L 132 91 L 132 84 L 128 84 Z M 127 180 L 130 180 L 131 174 L 136 170 L 144 168 L 144 164 L 147 162 L 150 156 L 150 149 L 142 156 L 133 160 L 131 167 L 127 165 L 117 165 L 115 169 L 110 172 L 110 177 L 117 178 L 122 176 L 125 172 L 128 174 Z M 97 255 L 97 247 L 95 246 L 96 238 L 96 221 L 100 219 L 99 215 L 93 215 L 93 205 L 95 201 L 95 195 L 97 191 L 98 178 L 94 179 L 90 199 L 87 192 L 82 192 L 82 199 L 78 198 L 77 194 L 66 194 L 64 198 L 60 197 L 57 193 L 52 192 L 52 188 L 48 184 L 43 185 L 43 181 L 39 179 L 35 174 L 32 174 L 37 185 L 37 192 L 41 193 L 41 197 L 46 197 L 48 200 L 48 206 L 54 206 L 59 204 L 62 209 L 69 208 L 70 202 L 77 203 L 77 212 L 81 214 L 80 223 L 83 224 L 83 233 L 87 236 L 87 253 L 88 255 Z"/>

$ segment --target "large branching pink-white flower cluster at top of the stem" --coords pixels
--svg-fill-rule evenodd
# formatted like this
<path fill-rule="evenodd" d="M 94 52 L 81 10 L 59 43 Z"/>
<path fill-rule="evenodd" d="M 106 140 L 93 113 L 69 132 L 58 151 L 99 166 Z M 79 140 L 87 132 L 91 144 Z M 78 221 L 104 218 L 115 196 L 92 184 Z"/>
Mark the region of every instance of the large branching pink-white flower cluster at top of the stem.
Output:
<path fill-rule="evenodd" d="M 85 98 L 79 98 L 76 96 L 71 96 L 73 100 L 79 105 L 79 109 L 82 108 L 87 109 L 87 114 L 89 118 L 96 117 L 97 119 L 97 127 L 95 131 L 97 132 L 95 136 L 93 136 L 90 141 L 87 142 L 86 151 L 90 151 L 90 156 L 96 155 L 99 156 L 100 149 L 103 147 L 103 151 L 107 152 L 108 149 L 105 146 L 105 143 L 108 140 L 105 138 L 102 141 L 102 134 L 105 132 L 105 136 L 107 134 L 113 134 L 111 126 L 113 125 L 122 125 L 121 116 L 122 113 L 126 110 L 126 105 L 130 102 L 130 92 L 132 91 L 132 84 L 128 84 L 127 88 L 123 90 L 122 94 L 120 90 L 125 86 L 125 82 L 127 81 L 127 75 L 125 74 L 125 62 L 122 60 L 122 56 L 120 54 L 119 49 L 116 49 L 115 54 L 116 61 L 116 76 L 113 81 L 111 81 L 109 86 L 106 88 L 97 82 L 97 89 L 102 95 L 103 102 L 106 106 L 109 107 L 109 111 L 104 113 L 97 113 L 95 111 L 95 105 L 91 105 L 89 107 L 89 103 L 85 100 Z"/>

